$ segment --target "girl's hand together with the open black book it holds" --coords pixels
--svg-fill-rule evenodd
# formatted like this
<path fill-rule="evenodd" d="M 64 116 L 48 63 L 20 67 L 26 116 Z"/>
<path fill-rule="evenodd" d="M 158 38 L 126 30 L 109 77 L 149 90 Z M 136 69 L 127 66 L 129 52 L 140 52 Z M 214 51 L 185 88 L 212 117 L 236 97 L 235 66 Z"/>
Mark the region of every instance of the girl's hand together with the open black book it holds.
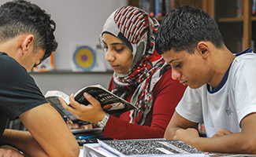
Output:
<path fill-rule="evenodd" d="M 72 94 L 71 97 L 61 91 L 50 90 L 45 97 L 61 116 L 67 116 L 72 121 L 78 118 L 86 122 L 97 123 L 106 113 L 120 115 L 124 111 L 137 109 L 100 85 L 86 86 Z"/>

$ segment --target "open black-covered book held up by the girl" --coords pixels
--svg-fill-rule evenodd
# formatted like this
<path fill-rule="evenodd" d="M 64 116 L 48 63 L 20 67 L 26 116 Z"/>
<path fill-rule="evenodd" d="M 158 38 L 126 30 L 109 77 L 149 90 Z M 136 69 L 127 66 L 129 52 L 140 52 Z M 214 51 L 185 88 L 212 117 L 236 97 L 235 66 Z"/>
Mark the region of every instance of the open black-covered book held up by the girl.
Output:
<path fill-rule="evenodd" d="M 120 115 L 125 111 L 132 109 L 137 109 L 134 105 L 128 103 L 128 101 L 117 97 L 109 90 L 105 89 L 100 85 L 86 86 L 74 94 L 74 98 L 80 104 L 90 104 L 90 102 L 83 97 L 83 93 L 89 93 L 92 97 L 95 97 L 102 105 L 104 111 L 109 113 L 109 115 Z M 58 90 L 50 90 L 45 94 L 46 100 L 62 115 L 67 116 L 70 120 L 75 120 L 75 115 L 72 115 L 69 111 L 66 111 L 62 107 L 59 97 L 62 97 L 67 104 L 69 103 L 69 95 Z"/>

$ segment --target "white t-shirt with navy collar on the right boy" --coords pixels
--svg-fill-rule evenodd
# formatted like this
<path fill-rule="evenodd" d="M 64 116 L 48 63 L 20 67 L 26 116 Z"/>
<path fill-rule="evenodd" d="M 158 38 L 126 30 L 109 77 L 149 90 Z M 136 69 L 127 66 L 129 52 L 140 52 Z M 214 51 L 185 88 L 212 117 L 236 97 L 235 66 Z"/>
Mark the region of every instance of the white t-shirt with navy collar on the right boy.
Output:
<path fill-rule="evenodd" d="M 256 112 L 256 54 L 251 49 L 239 53 L 221 83 L 208 88 L 187 87 L 176 112 L 191 122 L 204 122 L 207 137 L 221 128 L 240 132 L 241 120 Z"/>

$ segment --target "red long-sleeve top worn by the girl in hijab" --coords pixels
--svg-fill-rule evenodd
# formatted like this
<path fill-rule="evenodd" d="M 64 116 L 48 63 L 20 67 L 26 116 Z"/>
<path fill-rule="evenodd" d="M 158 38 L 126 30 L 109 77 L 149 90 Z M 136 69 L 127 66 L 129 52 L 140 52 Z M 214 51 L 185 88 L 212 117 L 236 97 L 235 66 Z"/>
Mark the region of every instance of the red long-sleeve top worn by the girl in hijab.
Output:
<path fill-rule="evenodd" d="M 109 90 L 111 91 L 113 87 L 112 79 L 109 83 Z M 129 123 L 130 111 L 126 111 L 119 118 L 110 115 L 102 135 L 120 140 L 164 137 L 165 128 L 169 124 L 186 87 L 179 81 L 172 79 L 172 70 L 166 71 L 154 86 L 153 107 L 148 113 L 144 125 Z M 128 102 L 130 102 L 132 94 L 126 98 Z"/>

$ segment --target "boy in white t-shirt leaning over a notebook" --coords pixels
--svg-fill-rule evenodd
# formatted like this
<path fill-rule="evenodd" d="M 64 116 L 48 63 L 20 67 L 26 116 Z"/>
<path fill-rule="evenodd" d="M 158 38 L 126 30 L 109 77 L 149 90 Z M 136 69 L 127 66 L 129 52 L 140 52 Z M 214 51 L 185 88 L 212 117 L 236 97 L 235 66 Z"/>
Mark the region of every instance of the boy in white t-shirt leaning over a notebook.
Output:
<path fill-rule="evenodd" d="M 187 85 L 165 131 L 203 152 L 256 154 L 256 54 L 234 55 L 217 23 L 202 9 L 182 6 L 165 16 L 156 49 Z M 204 122 L 206 137 L 199 137 Z"/>

